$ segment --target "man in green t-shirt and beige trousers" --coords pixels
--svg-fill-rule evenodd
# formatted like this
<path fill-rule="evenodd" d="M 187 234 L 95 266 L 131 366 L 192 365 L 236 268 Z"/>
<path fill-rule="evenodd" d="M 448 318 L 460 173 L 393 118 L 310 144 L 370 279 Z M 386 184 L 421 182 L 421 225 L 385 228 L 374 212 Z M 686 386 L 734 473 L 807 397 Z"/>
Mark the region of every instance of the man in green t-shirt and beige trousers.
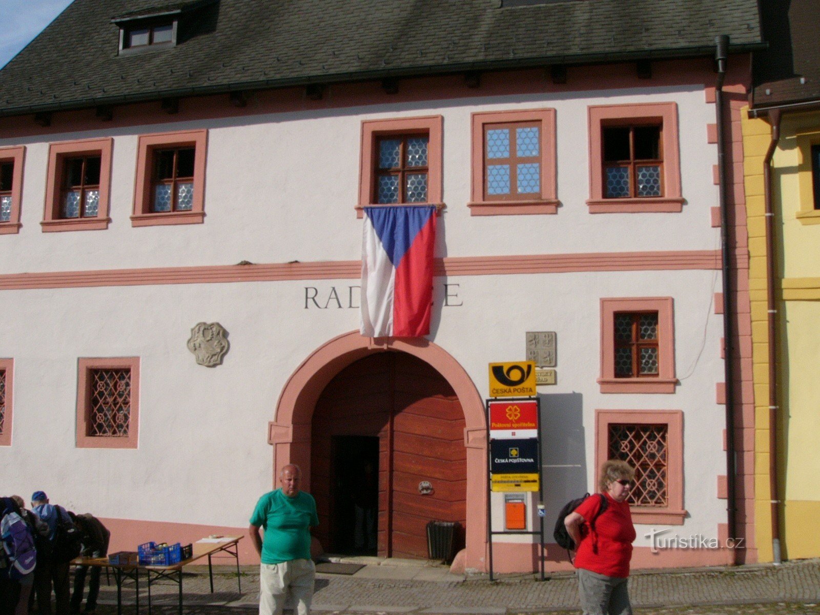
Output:
<path fill-rule="evenodd" d="M 299 490 L 302 471 L 293 464 L 282 468 L 280 489 L 259 499 L 251 515 L 248 535 L 262 559 L 259 569 L 259 615 L 282 615 L 288 591 L 297 615 L 308 615 L 316 567 L 310 557 L 310 528 L 319 525 L 316 501 Z M 259 528 L 264 528 L 264 539 Z"/>

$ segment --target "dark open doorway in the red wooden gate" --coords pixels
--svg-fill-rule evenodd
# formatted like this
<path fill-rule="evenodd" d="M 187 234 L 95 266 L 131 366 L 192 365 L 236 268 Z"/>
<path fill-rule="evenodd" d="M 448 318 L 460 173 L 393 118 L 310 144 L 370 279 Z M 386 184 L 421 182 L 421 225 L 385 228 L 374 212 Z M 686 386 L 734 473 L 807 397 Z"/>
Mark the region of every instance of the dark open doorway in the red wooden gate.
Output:
<path fill-rule="evenodd" d="M 333 438 L 334 553 L 376 555 L 379 526 L 379 437 Z"/>

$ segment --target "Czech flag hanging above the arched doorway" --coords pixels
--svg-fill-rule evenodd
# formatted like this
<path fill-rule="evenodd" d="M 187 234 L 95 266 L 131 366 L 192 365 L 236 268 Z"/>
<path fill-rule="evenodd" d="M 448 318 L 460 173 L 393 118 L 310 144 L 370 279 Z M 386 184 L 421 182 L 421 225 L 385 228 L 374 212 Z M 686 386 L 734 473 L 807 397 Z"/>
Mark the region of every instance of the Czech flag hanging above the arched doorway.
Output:
<path fill-rule="evenodd" d="M 430 333 L 435 206 L 364 208 L 362 335 Z"/>

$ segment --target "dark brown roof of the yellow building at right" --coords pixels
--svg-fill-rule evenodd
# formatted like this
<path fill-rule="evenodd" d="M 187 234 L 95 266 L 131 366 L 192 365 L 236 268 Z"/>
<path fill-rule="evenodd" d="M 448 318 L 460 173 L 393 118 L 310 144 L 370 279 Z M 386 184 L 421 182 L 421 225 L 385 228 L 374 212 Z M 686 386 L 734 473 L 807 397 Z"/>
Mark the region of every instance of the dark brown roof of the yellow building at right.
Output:
<path fill-rule="evenodd" d="M 752 61 L 754 107 L 820 100 L 820 2 L 762 0 L 769 47 Z"/>

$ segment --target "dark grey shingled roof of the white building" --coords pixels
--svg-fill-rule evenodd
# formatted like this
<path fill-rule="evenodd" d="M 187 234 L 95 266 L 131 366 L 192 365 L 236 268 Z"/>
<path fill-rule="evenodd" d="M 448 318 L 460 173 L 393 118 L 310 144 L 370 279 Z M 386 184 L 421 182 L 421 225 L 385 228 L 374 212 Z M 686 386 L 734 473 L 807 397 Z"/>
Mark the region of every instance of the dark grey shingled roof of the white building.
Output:
<path fill-rule="evenodd" d="M 0 71 L 0 115 L 433 72 L 712 55 L 761 42 L 757 0 L 218 0 L 174 48 L 117 55 L 112 19 L 185 7 L 75 0 Z M 193 22 L 193 23 L 190 23 Z"/>

